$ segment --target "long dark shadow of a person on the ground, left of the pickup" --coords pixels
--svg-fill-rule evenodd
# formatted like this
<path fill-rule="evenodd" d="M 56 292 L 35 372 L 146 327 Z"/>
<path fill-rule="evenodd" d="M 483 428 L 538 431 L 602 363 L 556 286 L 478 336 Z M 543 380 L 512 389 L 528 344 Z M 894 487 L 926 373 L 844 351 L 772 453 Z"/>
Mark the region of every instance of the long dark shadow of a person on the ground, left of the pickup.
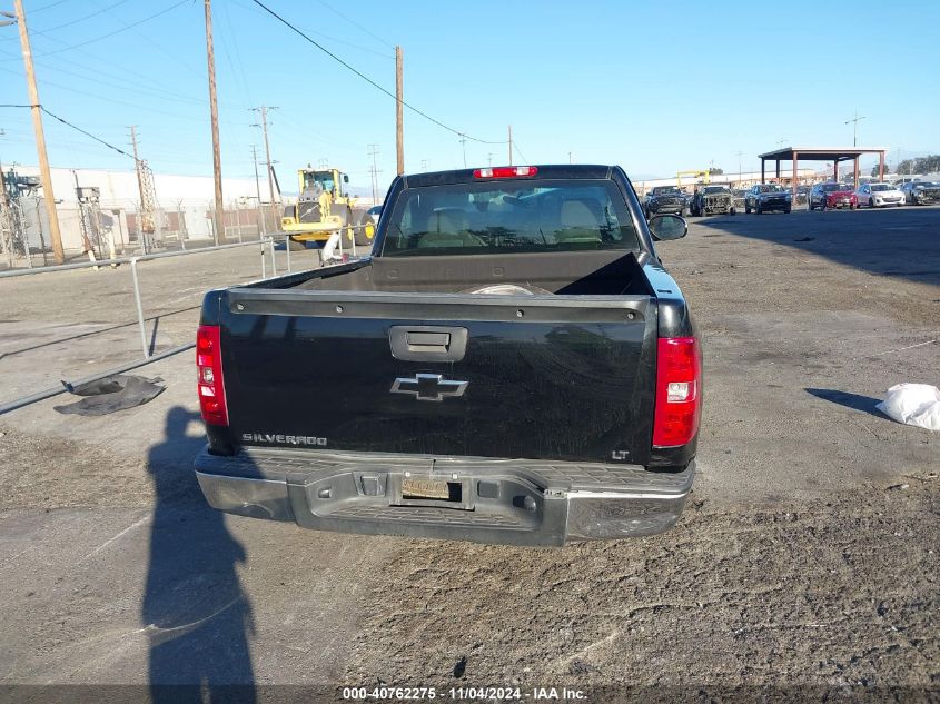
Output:
<path fill-rule="evenodd" d="M 148 455 L 156 504 L 140 615 L 151 698 L 254 704 L 253 609 L 237 573 L 246 554 L 199 490 L 191 459 L 205 440 L 187 435 L 198 422 L 198 414 L 171 408 L 164 442 Z"/>

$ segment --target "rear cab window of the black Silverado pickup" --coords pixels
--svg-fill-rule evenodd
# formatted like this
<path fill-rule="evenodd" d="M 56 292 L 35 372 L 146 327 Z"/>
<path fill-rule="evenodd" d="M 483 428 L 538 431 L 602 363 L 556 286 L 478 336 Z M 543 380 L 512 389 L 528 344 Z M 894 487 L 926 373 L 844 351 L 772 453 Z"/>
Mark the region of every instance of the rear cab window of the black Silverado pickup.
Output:
<path fill-rule="evenodd" d="M 382 256 L 639 250 L 610 179 L 486 180 L 407 188 L 390 214 Z"/>

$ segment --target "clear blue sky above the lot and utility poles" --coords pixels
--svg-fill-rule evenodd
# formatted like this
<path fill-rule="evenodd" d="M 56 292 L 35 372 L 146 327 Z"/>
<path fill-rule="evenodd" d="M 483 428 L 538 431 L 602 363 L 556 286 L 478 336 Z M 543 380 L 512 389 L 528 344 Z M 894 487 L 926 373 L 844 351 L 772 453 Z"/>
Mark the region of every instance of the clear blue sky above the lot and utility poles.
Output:
<path fill-rule="evenodd" d="M 24 0 L 40 97 L 51 111 L 158 171 L 211 173 L 201 0 Z M 266 0 L 405 100 L 516 161 L 614 162 L 634 178 L 714 163 L 756 168 L 788 145 L 890 148 L 889 162 L 940 151 L 940 3 L 512 2 Z M 174 7 L 176 6 L 176 7 Z M 277 106 L 271 157 L 284 187 L 327 159 L 369 184 L 395 172 L 395 103 L 293 34 L 251 0 L 214 0 L 222 172 L 253 173 L 261 136 L 249 108 Z M 171 8 L 171 9 L 169 9 Z M 168 9 L 162 14 L 130 27 Z M 350 21 L 352 20 L 352 21 Z M 107 34 L 110 37 L 99 39 Z M 87 42 L 87 43 L 86 43 Z M 76 47 L 76 44 L 83 44 Z M 28 102 L 16 27 L 0 28 L 3 102 Z M 46 119 L 53 166 L 132 161 Z M 28 110 L 0 109 L 0 159 L 34 163 Z M 469 166 L 505 145 L 466 142 Z M 522 156 L 520 156 L 522 155 Z M 463 166 L 458 138 L 405 111 L 406 170 Z"/>

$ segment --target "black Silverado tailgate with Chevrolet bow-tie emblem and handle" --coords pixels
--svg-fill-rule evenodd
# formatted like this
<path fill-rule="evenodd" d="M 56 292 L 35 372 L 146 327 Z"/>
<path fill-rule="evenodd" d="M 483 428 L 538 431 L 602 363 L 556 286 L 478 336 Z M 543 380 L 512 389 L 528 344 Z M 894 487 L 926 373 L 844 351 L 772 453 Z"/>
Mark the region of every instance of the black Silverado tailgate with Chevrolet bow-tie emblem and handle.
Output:
<path fill-rule="evenodd" d="M 649 296 L 236 288 L 219 305 L 236 444 L 649 459 Z"/>

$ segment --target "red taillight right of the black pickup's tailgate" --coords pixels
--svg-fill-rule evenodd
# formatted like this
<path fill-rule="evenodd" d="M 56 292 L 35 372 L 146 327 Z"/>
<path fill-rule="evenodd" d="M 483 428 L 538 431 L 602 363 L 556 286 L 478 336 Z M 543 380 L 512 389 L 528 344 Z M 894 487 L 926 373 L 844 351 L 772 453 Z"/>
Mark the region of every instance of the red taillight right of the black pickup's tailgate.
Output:
<path fill-rule="evenodd" d="M 694 337 L 660 338 L 656 348 L 656 412 L 653 445 L 685 445 L 699 432 L 702 359 Z"/>

